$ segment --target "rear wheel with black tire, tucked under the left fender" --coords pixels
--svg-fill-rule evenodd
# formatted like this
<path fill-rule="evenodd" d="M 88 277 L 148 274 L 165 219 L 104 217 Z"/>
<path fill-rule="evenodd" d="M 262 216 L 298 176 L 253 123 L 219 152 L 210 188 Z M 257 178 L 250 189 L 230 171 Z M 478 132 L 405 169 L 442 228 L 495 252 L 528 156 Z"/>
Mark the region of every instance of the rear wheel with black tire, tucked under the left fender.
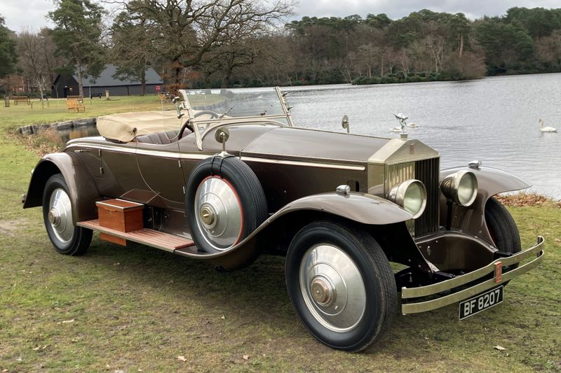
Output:
<path fill-rule="evenodd" d="M 92 230 L 76 227 L 72 224 L 72 207 L 64 209 L 60 208 L 58 205 L 55 206 L 55 210 L 60 210 L 57 215 L 64 216 L 64 218 L 60 218 L 59 216 L 59 221 L 64 221 L 66 224 L 69 224 L 67 229 L 63 232 L 59 231 L 61 227 L 60 223 L 57 225 L 56 222 L 50 222 L 49 211 L 53 207 L 51 206 L 51 197 L 54 198 L 55 196 L 53 194 L 55 193 L 58 193 L 58 195 L 62 197 L 64 197 L 62 193 L 65 193 L 66 197 L 70 195 L 65 178 L 62 177 L 61 174 L 50 176 L 43 189 L 43 222 L 45 223 L 50 242 L 53 244 L 56 251 L 61 254 L 81 255 L 86 253 L 92 241 L 93 232 Z M 68 204 L 68 206 L 71 205 Z"/>

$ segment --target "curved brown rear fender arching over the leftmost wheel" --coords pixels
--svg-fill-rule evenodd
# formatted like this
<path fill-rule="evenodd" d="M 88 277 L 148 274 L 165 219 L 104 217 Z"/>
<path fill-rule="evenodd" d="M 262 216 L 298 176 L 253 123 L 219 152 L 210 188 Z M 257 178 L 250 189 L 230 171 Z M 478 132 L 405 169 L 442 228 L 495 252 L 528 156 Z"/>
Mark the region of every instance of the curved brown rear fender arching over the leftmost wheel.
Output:
<path fill-rule="evenodd" d="M 65 178 L 70 192 L 73 223 L 97 218 L 95 201 L 100 199 L 100 194 L 86 165 L 72 153 L 52 153 L 39 160 L 32 173 L 23 208 L 42 206 L 48 178 L 59 173 Z"/>

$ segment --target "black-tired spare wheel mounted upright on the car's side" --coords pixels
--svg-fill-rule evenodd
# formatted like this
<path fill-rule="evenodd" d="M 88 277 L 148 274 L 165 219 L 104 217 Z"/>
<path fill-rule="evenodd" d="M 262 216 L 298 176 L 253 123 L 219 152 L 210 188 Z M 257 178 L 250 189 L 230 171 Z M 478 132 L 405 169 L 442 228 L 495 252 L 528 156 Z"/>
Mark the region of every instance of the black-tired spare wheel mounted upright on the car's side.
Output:
<path fill-rule="evenodd" d="M 238 199 L 238 207 L 241 211 L 241 227 L 236 230 L 237 239 L 227 243 L 220 243 L 213 237 L 210 237 L 210 228 L 207 229 L 200 218 L 201 211 L 196 209 L 197 191 L 203 185 L 203 182 L 210 178 L 215 178 L 229 185 L 229 188 Z M 215 253 L 224 251 L 231 246 L 248 237 L 267 217 L 267 204 L 265 193 L 257 176 L 252 169 L 238 160 L 236 157 L 215 156 L 201 161 L 191 171 L 189 181 L 187 181 L 187 191 L 185 193 L 185 210 L 187 213 L 187 221 L 191 228 L 191 236 L 193 237 L 197 248 L 206 253 Z M 217 221 L 221 215 L 218 209 L 215 210 Z M 228 217 L 232 214 L 227 215 Z M 222 220 L 223 221 L 223 220 Z M 226 239 L 224 241 L 227 241 Z"/>

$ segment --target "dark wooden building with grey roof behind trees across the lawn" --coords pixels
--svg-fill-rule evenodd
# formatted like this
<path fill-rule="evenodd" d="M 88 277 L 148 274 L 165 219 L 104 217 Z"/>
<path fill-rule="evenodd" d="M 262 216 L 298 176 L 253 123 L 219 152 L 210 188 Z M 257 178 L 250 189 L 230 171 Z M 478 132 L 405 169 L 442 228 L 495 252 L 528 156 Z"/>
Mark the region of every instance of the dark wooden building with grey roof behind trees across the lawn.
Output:
<path fill-rule="evenodd" d="M 110 96 L 128 96 L 130 94 L 140 94 L 142 85 L 137 80 L 121 80 L 116 77 L 116 66 L 107 65 L 97 78 L 82 78 L 83 95 L 89 97 L 91 94 L 105 95 L 105 90 L 109 90 Z M 162 78 L 149 67 L 146 70 L 146 93 L 156 93 L 156 85 L 162 85 Z M 53 85 L 53 97 L 67 97 L 78 95 L 78 76 L 58 75 Z M 163 87 L 162 87 L 163 90 Z"/>

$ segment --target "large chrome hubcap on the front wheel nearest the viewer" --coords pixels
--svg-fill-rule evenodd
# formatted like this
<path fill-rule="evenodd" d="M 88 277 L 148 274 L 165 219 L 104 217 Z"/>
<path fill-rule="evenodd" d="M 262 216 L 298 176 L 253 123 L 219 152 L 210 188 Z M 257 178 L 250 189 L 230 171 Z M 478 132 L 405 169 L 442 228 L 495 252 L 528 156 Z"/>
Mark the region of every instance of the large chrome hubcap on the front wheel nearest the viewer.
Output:
<path fill-rule="evenodd" d="M 334 332 L 352 330 L 366 307 L 363 277 L 344 251 L 319 244 L 304 254 L 299 271 L 304 302 L 321 325 Z"/>

